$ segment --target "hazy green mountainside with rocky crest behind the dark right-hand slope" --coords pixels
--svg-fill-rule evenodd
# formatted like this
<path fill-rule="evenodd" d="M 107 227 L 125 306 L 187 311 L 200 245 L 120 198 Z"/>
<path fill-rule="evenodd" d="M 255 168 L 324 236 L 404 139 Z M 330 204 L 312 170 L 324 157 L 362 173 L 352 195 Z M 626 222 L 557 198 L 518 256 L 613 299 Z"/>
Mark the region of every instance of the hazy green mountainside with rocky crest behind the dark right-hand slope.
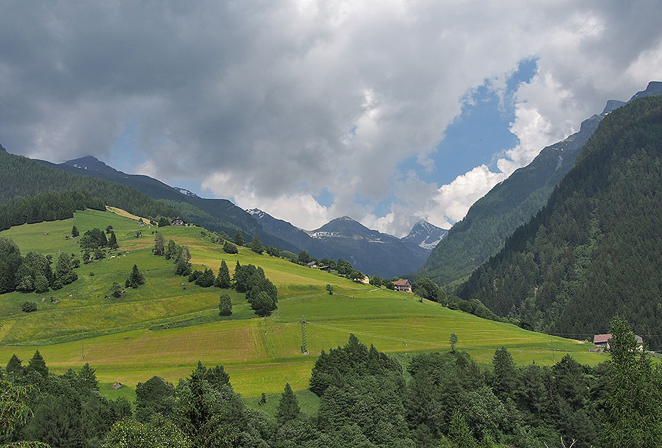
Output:
<path fill-rule="evenodd" d="M 659 94 L 662 83 L 654 81 L 630 101 Z M 517 227 L 541 210 L 599 123 L 623 105 L 623 101 L 608 101 L 600 114 L 581 123 L 579 132 L 543 148 L 529 165 L 492 188 L 451 227 L 448 236 L 432 250 L 423 269 L 412 276 L 430 277 L 447 289 L 465 281 L 474 269 L 503 247 Z"/>

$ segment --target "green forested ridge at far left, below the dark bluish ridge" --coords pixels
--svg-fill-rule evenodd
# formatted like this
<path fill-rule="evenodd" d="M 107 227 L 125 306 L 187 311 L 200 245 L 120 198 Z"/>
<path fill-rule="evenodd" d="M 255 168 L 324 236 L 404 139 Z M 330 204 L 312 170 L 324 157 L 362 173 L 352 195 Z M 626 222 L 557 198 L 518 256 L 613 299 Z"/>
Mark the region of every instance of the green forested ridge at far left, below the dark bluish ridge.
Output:
<path fill-rule="evenodd" d="M 27 157 L 15 156 L 5 151 L 0 151 L 0 167 L 3 174 L 0 205 L 39 194 L 77 190 L 101 199 L 106 205 L 120 207 L 140 216 L 181 214 L 176 208 L 161 201 L 154 201 L 125 185 L 90 177 L 72 176 Z"/>

